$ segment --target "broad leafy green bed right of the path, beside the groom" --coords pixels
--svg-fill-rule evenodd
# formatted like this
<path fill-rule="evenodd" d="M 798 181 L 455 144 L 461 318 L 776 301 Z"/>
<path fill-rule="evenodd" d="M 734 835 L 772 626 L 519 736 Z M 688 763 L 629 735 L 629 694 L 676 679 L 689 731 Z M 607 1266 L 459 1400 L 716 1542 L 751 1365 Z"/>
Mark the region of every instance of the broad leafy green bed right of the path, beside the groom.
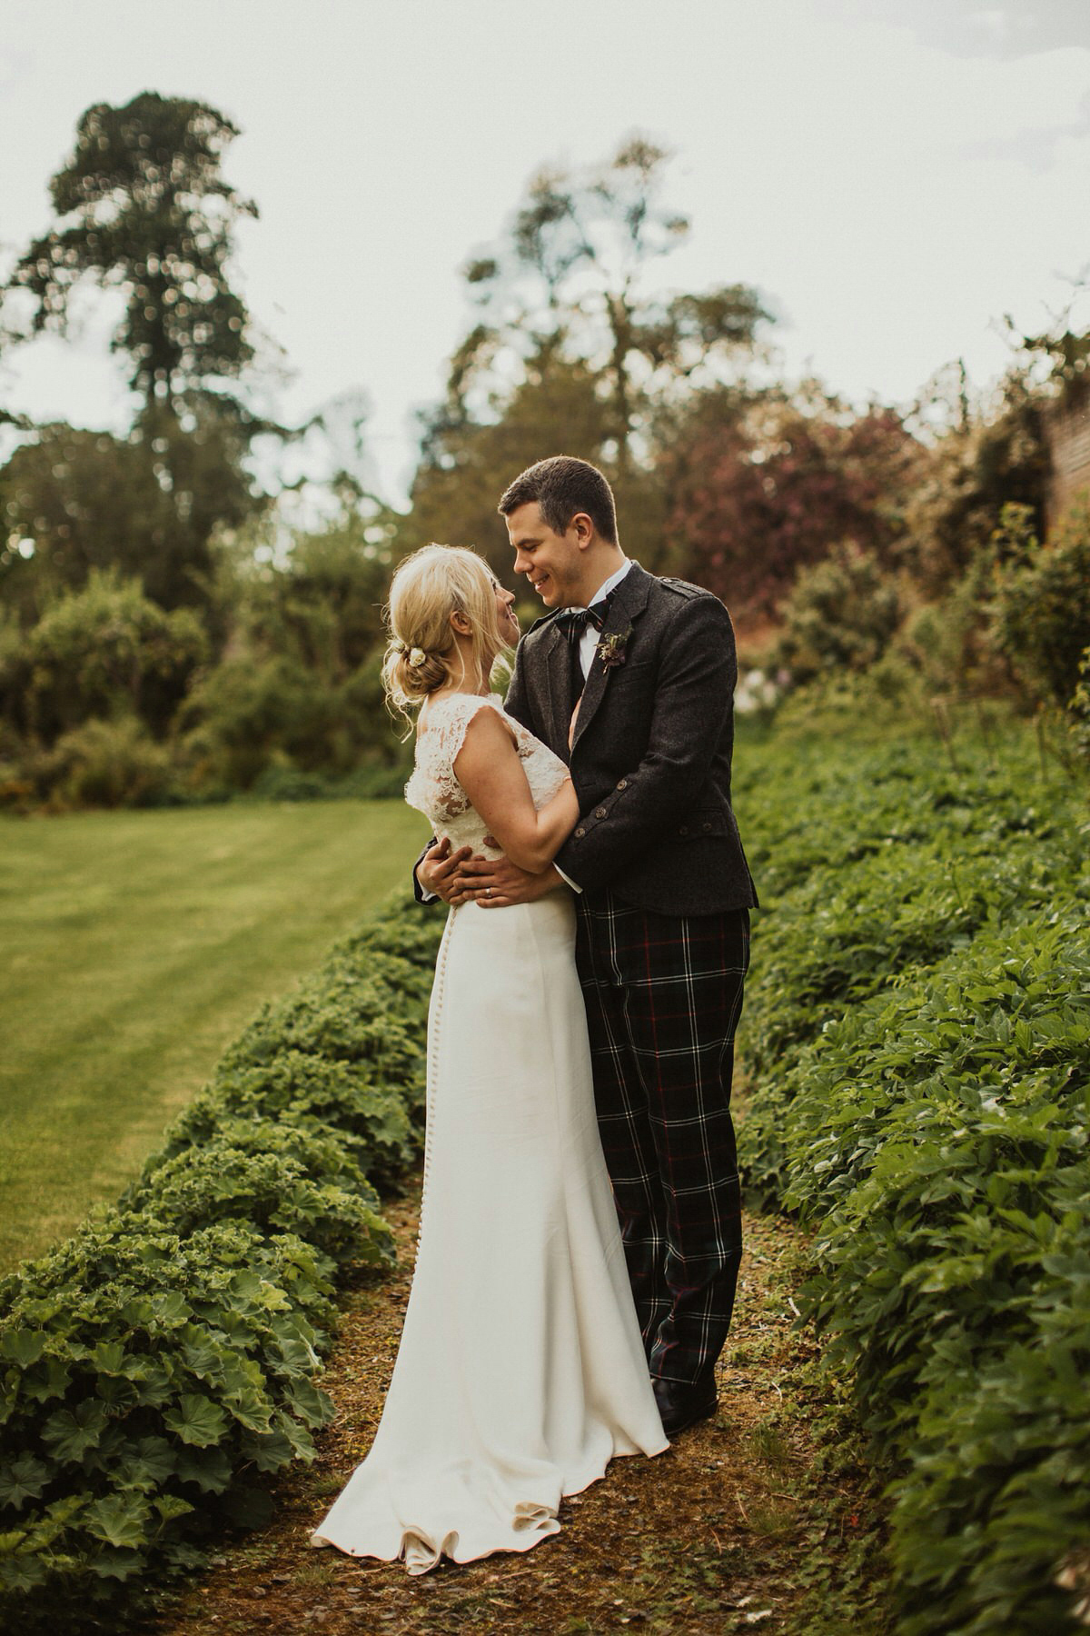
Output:
<path fill-rule="evenodd" d="M 1057 1636 L 1090 1590 L 1090 825 L 1016 738 L 977 754 L 747 757 L 742 1162 L 815 1229 L 807 1315 L 896 1469 L 900 1636 Z"/>

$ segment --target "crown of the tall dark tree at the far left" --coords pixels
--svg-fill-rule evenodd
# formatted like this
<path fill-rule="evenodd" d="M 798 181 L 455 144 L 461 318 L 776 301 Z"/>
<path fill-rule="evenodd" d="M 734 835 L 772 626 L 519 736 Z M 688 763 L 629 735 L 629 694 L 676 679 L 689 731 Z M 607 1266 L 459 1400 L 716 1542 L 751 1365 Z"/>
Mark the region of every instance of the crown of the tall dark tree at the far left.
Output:
<path fill-rule="evenodd" d="M 149 411 L 235 380 L 253 357 L 248 314 L 227 278 L 235 222 L 257 216 L 221 173 L 237 134 L 188 98 L 142 92 L 124 108 L 95 103 L 51 182 L 60 221 L 11 275 L 34 296 L 34 332 L 67 329 L 85 278 L 121 290 L 113 347 L 129 357 L 129 383 Z"/>

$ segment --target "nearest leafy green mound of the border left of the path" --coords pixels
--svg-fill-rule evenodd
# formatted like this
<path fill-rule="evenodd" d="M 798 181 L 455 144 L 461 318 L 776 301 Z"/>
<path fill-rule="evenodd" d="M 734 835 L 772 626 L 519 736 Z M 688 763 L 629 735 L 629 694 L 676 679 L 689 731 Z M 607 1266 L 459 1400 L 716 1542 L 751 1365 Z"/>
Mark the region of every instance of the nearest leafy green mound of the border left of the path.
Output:
<path fill-rule="evenodd" d="M 108 1211 L 0 1286 L 0 1611 L 101 1611 L 157 1559 L 268 1515 L 248 1474 L 312 1453 L 332 1286 L 293 1235 Z"/>

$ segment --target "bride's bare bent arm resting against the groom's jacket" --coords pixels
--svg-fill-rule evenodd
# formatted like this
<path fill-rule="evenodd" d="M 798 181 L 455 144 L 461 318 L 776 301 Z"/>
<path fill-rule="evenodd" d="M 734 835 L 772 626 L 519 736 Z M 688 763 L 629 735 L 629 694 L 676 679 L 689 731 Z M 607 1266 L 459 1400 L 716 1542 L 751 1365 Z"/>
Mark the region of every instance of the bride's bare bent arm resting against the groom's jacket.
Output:
<path fill-rule="evenodd" d="M 552 800 L 534 810 L 515 739 L 495 710 L 477 710 L 454 772 L 511 862 L 534 875 L 546 870 L 579 820 L 572 780 L 565 779 Z"/>

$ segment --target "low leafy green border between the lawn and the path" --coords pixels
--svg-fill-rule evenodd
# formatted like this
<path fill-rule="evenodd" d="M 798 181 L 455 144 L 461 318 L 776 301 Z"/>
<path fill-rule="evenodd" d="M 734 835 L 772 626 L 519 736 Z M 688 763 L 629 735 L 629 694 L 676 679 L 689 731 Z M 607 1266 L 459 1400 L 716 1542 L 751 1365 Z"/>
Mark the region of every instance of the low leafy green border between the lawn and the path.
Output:
<path fill-rule="evenodd" d="M 346 1263 L 422 1140 L 441 916 L 392 903 L 266 1006 L 114 1207 L 0 1283 L 0 1620 L 132 1610 L 310 1458 Z M 113 1616 L 111 1616 L 113 1618 Z"/>

